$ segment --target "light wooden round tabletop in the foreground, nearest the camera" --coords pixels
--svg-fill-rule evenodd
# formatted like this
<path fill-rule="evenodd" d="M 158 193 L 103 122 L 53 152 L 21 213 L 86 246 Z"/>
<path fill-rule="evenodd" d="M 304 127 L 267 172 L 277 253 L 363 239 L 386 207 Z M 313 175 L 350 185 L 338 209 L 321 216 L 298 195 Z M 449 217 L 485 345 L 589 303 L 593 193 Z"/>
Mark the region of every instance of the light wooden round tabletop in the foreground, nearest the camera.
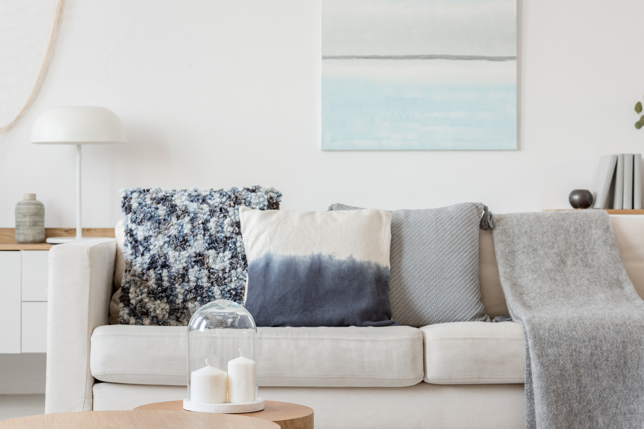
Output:
<path fill-rule="evenodd" d="M 278 424 L 234 414 L 183 411 L 84 411 L 0 421 L 0 429 L 279 429 Z"/>

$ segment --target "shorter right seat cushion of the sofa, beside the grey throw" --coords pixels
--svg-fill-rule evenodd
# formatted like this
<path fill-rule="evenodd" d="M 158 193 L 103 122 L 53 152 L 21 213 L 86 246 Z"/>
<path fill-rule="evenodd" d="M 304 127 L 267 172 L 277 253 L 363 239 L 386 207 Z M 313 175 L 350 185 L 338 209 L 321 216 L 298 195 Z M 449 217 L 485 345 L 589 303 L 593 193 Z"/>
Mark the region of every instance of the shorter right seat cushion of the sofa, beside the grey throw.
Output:
<path fill-rule="evenodd" d="M 524 383 L 524 337 L 518 323 L 439 323 L 421 331 L 427 383 Z"/>

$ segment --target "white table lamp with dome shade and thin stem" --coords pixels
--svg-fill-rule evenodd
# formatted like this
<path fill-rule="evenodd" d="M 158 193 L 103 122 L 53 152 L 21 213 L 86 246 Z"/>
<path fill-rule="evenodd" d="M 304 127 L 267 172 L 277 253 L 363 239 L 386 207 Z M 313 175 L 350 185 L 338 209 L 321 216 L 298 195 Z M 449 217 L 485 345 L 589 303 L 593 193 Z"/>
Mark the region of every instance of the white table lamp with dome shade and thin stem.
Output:
<path fill-rule="evenodd" d="M 62 106 L 42 113 L 33 124 L 32 143 L 76 145 L 76 236 L 50 237 L 48 243 L 81 240 L 81 146 L 127 142 L 125 127 L 113 111 L 96 106 Z M 99 237 L 86 237 L 99 238 Z"/>

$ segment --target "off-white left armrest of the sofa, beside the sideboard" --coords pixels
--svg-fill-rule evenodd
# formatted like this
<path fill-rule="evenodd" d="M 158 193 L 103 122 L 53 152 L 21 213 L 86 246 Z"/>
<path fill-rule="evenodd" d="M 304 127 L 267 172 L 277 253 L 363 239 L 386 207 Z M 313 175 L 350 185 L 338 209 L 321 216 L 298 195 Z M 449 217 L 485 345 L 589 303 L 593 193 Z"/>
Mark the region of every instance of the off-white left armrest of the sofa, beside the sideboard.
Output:
<path fill-rule="evenodd" d="M 108 323 L 116 245 L 90 239 L 49 251 L 47 414 L 92 409 L 90 337 Z"/>

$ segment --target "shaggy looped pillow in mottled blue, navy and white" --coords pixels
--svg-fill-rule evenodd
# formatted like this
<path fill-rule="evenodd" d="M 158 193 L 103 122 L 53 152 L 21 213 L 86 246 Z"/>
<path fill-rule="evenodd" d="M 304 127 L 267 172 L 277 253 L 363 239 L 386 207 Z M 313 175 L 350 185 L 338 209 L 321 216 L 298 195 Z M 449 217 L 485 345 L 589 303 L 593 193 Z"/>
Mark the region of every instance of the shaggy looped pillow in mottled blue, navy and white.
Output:
<path fill-rule="evenodd" d="M 120 195 L 126 269 L 118 323 L 182 326 L 210 301 L 243 303 L 239 207 L 277 210 L 279 191 L 133 188 Z"/>

